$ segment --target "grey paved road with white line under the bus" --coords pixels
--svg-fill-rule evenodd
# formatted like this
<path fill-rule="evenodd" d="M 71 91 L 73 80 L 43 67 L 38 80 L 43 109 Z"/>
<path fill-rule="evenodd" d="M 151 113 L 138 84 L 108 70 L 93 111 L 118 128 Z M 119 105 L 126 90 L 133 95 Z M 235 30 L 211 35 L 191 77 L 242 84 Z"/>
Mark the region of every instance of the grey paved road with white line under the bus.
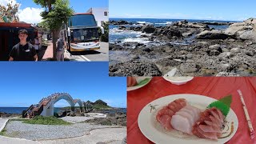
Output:
<path fill-rule="evenodd" d="M 74 59 L 75 61 L 109 61 L 109 43 L 100 42 L 101 49 L 89 50 L 82 52 L 65 52 L 65 58 Z"/>

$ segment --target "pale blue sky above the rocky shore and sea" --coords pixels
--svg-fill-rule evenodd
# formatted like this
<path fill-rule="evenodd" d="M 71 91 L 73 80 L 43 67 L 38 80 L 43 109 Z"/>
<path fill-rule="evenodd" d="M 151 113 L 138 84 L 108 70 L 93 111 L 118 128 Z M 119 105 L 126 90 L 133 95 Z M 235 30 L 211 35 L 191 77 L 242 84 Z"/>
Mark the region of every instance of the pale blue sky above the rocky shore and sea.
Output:
<path fill-rule="evenodd" d="M 255 0 L 110 0 L 110 18 L 243 21 L 256 18 Z"/>

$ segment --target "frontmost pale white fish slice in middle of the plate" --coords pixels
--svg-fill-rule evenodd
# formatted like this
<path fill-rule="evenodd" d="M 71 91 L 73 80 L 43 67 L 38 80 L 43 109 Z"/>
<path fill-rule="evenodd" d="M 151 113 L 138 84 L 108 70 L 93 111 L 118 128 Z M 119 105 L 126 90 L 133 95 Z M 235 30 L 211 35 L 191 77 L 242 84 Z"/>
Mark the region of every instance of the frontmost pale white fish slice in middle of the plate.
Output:
<path fill-rule="evenodd" d="M 192 134 L 192 126 L 190 125 L 189 120 L 181 115 L 174 115 L 170 120 L 170 124 L 175 130 L 182 131 L 186 134 Z"/>

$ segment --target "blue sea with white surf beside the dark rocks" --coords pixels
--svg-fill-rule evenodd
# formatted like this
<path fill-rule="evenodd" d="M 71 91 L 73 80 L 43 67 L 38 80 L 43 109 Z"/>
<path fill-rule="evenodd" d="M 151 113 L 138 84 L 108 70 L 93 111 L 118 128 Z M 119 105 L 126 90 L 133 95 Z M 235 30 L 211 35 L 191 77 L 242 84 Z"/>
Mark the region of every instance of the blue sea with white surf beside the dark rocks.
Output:
<path fill-rule="evenodd" d="M 172 22 L 182 21 L 182 19 L 157 19 L 157 18 L 110 18 L 110 21 L 119 21 L 124 20 L 126 22 L 138 23 L 138 25 L 134 26 L 142 26 L 142 24 L 150 24 L 153 26 L 167 26 Z M 188 22 L 231 22 L 231 21 L 214 21 L 214 20 L 193 20 L 188 19 Z M 130 26 L 130 25 L 126 25 Z M 210 28 L 214 28 L 215 30 L 225 30 L 228 28 L 227 25 L 224 26 L 213 26 L 208 25 Z M 147 38 L 140 38 L 142 32 L 140 31 L 132 31 L 132 30 L 118 30 L 119 26 L 110 25 L 110 43 L 114 42 L 138 42 L 146 45 L 158 45 L 161 42 L 151 42 Z M 174 44 L 186 44 L 186 42 L 173 42 Z"/>

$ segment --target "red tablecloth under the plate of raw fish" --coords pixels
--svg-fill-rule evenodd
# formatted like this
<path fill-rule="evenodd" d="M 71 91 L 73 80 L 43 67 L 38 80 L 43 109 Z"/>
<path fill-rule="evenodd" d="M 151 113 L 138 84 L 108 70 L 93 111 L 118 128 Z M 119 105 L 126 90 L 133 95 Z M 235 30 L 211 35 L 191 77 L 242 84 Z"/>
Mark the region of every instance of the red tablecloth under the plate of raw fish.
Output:
<path fill-rule="evenodd" d="M 170 94 L 200 94 L 210 98 L 222 98 L 232 94 L 231 108 L 238 116 L 238 131 L 227 143 L 256 143 L 250 139 L 248 126 L 237 90 L 242 90 L 250 120 L 256 130 L 256 78 L 198 77 L 185 85 L 177 86 L 162 77 L 154 77 L 146 86 L 127 93 L 127 142 L 146 144 L 150 142 L 138 128 L 138 114 L 146 104 Z"/>

